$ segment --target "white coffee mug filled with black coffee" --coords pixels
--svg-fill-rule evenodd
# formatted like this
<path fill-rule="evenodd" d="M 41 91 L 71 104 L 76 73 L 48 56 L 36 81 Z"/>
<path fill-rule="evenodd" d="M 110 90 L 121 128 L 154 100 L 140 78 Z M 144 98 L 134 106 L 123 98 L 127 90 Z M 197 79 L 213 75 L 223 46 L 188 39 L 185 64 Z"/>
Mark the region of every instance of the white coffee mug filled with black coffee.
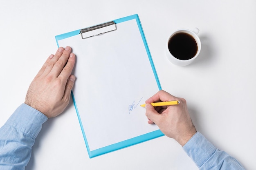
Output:
<path fill-rule="evenodd" d="M 166 43 L 168 60 L 177 66 L 191 64 L 201 51 L 198 33 L 198 28 L 193 31 L 189 29 L 175 31 Z"/>

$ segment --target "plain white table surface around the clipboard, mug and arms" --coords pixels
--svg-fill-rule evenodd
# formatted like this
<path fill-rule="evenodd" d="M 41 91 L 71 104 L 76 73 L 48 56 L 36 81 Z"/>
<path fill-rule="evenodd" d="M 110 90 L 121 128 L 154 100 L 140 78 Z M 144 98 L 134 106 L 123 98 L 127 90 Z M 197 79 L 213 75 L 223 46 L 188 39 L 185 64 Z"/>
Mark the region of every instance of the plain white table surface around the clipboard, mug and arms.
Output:
<path fill-rule="evenodd" d="M 255 9 L 255 0 L 1 0 L 0 126 L 57 50 L 55 35 L 137 13 L 162 88 L 187 100 L 197 130 L 215 146 L 247 170 L 256 169 Z M 200 29 L 200 55 L 189 66 L 171 64 L 165 56 L 168 36 L 194 27 Z M 89 159 L 71 101 L 43 125 L 26 169 L 198 168 L 168 137 Z"/>

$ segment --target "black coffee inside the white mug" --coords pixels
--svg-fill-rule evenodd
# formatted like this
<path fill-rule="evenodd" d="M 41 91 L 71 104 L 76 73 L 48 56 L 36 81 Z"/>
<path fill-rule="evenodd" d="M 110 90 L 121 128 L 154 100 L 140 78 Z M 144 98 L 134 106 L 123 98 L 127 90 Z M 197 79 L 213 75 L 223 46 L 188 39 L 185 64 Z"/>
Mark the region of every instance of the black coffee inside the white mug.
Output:
<path fill-rule="evenodd" d="M 169 40 L 168 49 L 175 58 L 189 60 L 196 55 L 198 45 L 188 33 L 176 33 Z"/>

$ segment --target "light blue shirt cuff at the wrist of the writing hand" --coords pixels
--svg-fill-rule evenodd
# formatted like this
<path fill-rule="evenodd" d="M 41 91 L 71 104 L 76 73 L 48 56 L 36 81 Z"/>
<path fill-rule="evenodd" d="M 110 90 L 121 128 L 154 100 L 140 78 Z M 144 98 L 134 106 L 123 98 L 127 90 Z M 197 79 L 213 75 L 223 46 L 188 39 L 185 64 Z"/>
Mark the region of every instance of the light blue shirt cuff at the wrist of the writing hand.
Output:
<path fill-rule="evenodd" d="M 217 150 L 200 132 L 196 132 L 183 149 L 198 167 L 202 166 Z"/>

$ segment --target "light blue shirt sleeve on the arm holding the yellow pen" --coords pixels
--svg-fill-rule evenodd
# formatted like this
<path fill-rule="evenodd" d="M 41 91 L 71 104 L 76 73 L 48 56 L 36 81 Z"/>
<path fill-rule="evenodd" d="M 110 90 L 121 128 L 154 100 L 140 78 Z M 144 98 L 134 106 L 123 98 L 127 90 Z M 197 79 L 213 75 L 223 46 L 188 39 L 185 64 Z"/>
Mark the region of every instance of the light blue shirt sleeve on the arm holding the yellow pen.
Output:
<path fill-rule="evenodd" d="M 245 170 L 234 157 L 218 150 L 200 132 L 196 132 L 183 149 L 200 170 Z"/>

